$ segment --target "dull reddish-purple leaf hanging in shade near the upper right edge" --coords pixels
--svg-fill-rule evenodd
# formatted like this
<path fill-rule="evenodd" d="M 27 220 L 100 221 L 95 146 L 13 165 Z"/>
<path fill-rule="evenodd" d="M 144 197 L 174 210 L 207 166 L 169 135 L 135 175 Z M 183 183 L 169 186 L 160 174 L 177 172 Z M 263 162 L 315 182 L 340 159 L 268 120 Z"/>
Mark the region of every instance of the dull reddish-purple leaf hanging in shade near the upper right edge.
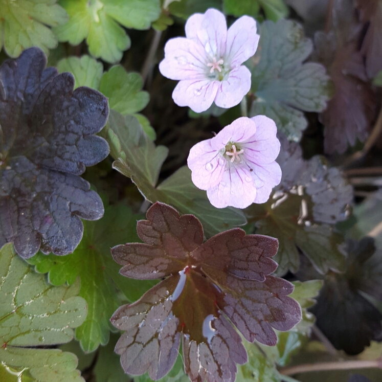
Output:
<path fill-rule="evenodd" d="M 320 115 L 325 126 L 325 152 L 342 154 L 357 139 L 366 140 L 376 104 L 364 58 L 358 51 L 362 25 L 355 19 L 353 3 L 346 0 L 334 6 L 332 15 L 332 31 L 314 36 L 314 59 L 326 66 L 335 87 L 333 98 Z"/>

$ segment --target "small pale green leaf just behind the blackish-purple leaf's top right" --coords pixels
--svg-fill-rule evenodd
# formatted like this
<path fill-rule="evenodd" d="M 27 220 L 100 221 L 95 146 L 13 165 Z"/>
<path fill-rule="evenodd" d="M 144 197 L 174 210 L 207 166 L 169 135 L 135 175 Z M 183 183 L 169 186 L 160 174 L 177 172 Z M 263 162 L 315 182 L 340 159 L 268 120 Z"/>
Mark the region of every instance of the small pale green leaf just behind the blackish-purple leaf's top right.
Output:
<path fill-rule="evenodd" d="M 74 75 L 75 89 L 79 86 L 92 87 L 96 90 L 99 89 L 103 74 L 103 66 L 101 62 L 98 62 L 92 57 L 82 56 L 81 58 L 64 58 L 58 62 L 57 69 L 59 73 L 71 72 Z"/>

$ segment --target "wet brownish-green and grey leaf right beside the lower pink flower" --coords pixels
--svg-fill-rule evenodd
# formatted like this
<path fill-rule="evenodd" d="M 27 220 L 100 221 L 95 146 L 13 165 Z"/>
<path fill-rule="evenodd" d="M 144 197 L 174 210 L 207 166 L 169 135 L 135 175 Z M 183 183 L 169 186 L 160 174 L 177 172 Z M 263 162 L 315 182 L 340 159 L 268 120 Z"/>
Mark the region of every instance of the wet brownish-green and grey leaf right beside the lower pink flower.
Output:
<path fill-rule="evenodd" d="M 345 265 L 340 248 L 343 239 L 332 224 L 349 215 L 352 187 L 337 168 L 328 167 L 324 157 L 304 160 L 297 143 L 288 142 L 282 134 L 279 139 L 276 161 L 282 170 L 281 183 L 267 203 L 245 210 L 248 220 L 255 222 L 257 233 L 278 238 L 278 274 L 298 270 L 299 250 L 320 273 L 341 271 Z"/>

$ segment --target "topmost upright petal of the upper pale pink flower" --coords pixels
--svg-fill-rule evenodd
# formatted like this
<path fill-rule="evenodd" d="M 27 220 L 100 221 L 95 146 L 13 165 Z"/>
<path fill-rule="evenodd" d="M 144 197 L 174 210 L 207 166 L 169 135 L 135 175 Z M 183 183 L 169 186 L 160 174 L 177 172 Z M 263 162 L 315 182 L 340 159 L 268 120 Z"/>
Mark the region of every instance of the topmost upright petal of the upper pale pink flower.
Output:
<path fill-rule="evenodd" d="M 197 41 L 211 61 L 226 53 L 227 22 L 218 10 L 210 8 L 204 14 L 193 14 L 188 18 L 185 30 L 186 37 Z"/>

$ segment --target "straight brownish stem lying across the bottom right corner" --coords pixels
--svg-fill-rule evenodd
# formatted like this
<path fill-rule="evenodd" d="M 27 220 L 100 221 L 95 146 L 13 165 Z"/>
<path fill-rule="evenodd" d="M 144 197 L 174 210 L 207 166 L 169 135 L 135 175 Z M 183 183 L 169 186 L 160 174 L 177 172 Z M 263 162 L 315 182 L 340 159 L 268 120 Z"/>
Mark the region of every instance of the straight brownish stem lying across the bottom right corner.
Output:
<path fill-rule="evenodd" d="M 382 369 L 382 359 L 378 358 L 373 359 L 372 361 L 357 360 L 297 365 L 281 369 L 280 374 L 295 375 L 300 373 L 308 373 L 311 371 L 350 370 L 367 368 Z"/>

